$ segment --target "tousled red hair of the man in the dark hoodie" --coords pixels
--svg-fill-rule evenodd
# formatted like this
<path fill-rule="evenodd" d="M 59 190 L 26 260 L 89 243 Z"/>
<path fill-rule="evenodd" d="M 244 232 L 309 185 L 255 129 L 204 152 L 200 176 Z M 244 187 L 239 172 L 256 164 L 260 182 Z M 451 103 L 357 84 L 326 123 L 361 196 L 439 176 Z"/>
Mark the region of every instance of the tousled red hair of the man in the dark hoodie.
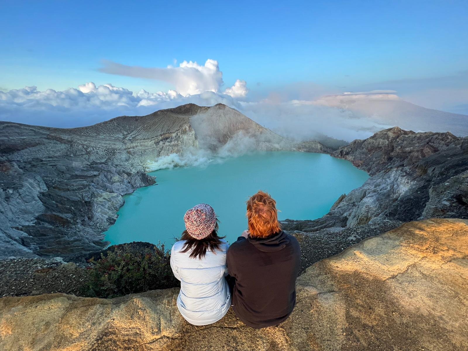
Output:
<path fill-rule="evenodd" d="M 267 238 L 281 231 L 276 201 L 268 193 L 259 190 L 247 201 L 247 222 L 252 238 Z"/>

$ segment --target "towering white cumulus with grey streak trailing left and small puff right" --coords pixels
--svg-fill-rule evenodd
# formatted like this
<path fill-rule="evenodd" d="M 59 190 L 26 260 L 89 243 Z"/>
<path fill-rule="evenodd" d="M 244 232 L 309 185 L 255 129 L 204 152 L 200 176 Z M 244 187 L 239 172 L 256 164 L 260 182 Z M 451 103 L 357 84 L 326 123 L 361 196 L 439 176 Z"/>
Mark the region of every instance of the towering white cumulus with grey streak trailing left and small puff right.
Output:
<path fill-rule="evenodd" d="M 178 67 L 169 65 L 166 68 L 126 66 L 112 61 L 103 63 L 104 67 L 99 69 L 101 72 L 165 81 L 174 85 L 176 91 L 183 96 L 205 91 L 218 93 L 224 84 L 218 61 L 212 59 L 207 59 L 204 66 L 197 62 L 183 61 Z M 237 80 L 233 87 L 226 89 L 225 94 L 244 97 L 247 92 L 245 80 Z"/>

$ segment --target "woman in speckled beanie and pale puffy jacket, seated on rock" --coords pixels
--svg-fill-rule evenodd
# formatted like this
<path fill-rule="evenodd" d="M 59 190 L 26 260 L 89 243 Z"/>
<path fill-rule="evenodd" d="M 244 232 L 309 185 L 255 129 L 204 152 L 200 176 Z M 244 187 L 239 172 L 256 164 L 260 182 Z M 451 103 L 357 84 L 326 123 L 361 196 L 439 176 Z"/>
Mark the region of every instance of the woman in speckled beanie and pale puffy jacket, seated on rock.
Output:
<path fill-rule="evenodd" d="M 171 268 L 180 280 L 177 307 L 194 325 L 219 321 L 231 306 L 227 275 L 227 241 L 218 236 L 216 214 L 200 204 L 183 216 L 186 230 L 171 250 Z"/>

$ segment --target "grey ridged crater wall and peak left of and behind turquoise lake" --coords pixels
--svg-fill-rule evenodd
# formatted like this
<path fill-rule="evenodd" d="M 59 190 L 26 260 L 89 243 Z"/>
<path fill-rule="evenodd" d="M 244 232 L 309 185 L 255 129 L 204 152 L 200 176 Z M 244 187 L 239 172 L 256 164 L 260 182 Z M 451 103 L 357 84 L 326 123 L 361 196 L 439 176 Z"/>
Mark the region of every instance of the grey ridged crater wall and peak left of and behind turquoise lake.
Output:
<path fill-rule="evenodd" d="M 122 195 L 154 184 L 148 161 L 199 148 L 246 151 L 241 146 L 331 151 L 313 141 L 294 144 L 222 104 L 73 129 L 0 122 L 0 258 L 97 251 Z"/>

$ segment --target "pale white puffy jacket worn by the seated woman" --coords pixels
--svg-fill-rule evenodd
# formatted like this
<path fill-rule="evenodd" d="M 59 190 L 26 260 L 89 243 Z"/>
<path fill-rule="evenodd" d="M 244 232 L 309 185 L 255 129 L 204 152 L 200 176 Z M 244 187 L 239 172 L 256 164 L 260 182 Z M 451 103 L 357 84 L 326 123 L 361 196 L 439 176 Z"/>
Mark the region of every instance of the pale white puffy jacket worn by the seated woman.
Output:
<path fill-rule="evenodd" d="M 227 241 L 221 251 L 206 251 L 202 259 L 189 258 L 190 251 L 180 252 L 185 240 L 177 241 L 171 249 L 171 268 L 180 280 L 177 307 L 183 318 L 194 325 L 219 321 L 231 307 L 231 294 L 226 279 Z"/>

